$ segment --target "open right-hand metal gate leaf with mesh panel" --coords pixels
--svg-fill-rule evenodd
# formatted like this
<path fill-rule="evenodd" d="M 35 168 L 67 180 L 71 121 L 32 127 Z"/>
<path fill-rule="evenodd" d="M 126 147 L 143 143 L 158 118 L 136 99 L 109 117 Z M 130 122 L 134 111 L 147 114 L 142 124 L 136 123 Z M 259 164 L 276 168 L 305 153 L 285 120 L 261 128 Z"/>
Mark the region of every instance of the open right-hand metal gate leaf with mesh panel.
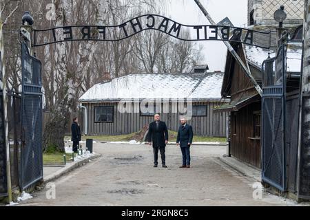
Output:
<path fill-rule="evenodd" d="M 285 44 L 262 69 L 262 181 L 285 191 Z"/>

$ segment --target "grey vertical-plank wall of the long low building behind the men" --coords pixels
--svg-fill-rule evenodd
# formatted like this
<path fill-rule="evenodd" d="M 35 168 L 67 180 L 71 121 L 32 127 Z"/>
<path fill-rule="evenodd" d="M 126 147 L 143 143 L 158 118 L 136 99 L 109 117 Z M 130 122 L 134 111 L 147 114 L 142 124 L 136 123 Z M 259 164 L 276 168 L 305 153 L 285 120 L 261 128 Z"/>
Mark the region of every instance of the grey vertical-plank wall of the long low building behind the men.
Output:
<path fill-rule="evenodd" d="M 193 126 L 195 135 L 208 137 L 226 137 L 226 118 L 228 113 L 214 113 L 213 109 L 223 102 L 196 102 L 195 105 L 207 105 L 207 116 L 193 117 L 188 123 Z M 117 109 L 117 102 L 85 103 L 87 107 L 88 135 L 121 135 L 140 131 L 143 126 L 154 121 L 153 116 L 141 116 L 140 113 L 120 113 Z M 94 107 L 113 106 L 114 121 L 112 123 L 95 123 Z M 132 108 L 138 108 L 133 104 Z M 162 105 L 163 108 L 163 105 Z M 172 113 L 177 109 L 176 105 L 169 103 L 170 113 L 161 113 L 161 120 L 166 122 L 168 129 L 177 131 L 180 125 L 178 113 Z"/>

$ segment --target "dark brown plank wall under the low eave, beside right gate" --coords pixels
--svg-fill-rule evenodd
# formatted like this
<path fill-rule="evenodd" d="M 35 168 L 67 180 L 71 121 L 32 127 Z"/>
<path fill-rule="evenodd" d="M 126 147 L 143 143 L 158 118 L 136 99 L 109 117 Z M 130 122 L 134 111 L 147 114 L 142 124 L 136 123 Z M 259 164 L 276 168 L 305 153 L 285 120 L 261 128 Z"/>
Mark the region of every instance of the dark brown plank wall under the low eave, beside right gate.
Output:
<path fill-rule="evenodd" d="M 261 102 L 255 102 L 239 111 L 231 112 L 230 132 L 231 155 L 258 168 L 261 167 L 260 140 L 250 138 L 254 137 L 254 112 L 260 110 Z"/>

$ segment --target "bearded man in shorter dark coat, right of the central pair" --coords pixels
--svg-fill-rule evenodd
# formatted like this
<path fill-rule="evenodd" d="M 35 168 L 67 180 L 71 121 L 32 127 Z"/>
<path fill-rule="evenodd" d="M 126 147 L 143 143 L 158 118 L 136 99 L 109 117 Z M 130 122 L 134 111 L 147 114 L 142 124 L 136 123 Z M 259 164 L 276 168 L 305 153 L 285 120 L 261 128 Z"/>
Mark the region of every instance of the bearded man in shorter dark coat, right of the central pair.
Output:
<path fill-rule="evenodd" d="M 181 118 L 181 125 L 178 129 L 178 137 L 176 138 L 176 145 L 180 146 L 183 156 L 183 164 L 180 168 L 190 168 L 191 165 L 191 155 L 189 148 L 192 145 L 193 141 L 193 129 L 192 126 L 187 124 L 185 118 Z"/>

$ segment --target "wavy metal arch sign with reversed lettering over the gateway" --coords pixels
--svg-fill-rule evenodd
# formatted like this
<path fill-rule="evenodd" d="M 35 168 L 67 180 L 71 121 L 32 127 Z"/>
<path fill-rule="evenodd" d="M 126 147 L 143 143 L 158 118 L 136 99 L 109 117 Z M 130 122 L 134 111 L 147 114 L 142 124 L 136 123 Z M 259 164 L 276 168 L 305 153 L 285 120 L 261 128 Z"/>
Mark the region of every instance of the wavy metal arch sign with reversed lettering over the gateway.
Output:
<path fill-rule="evenodd" d="M 183 25 L 161 15 L 145 14 L 121 25 L 71 25 L 45 30 L 33 29 L 32 47 L 66 41 L 121 41 L 145 30 L 164 32 L 182 41 L 234 41 L 262 48 L 271 46 L 270 32 L 223 25 Z"/>

